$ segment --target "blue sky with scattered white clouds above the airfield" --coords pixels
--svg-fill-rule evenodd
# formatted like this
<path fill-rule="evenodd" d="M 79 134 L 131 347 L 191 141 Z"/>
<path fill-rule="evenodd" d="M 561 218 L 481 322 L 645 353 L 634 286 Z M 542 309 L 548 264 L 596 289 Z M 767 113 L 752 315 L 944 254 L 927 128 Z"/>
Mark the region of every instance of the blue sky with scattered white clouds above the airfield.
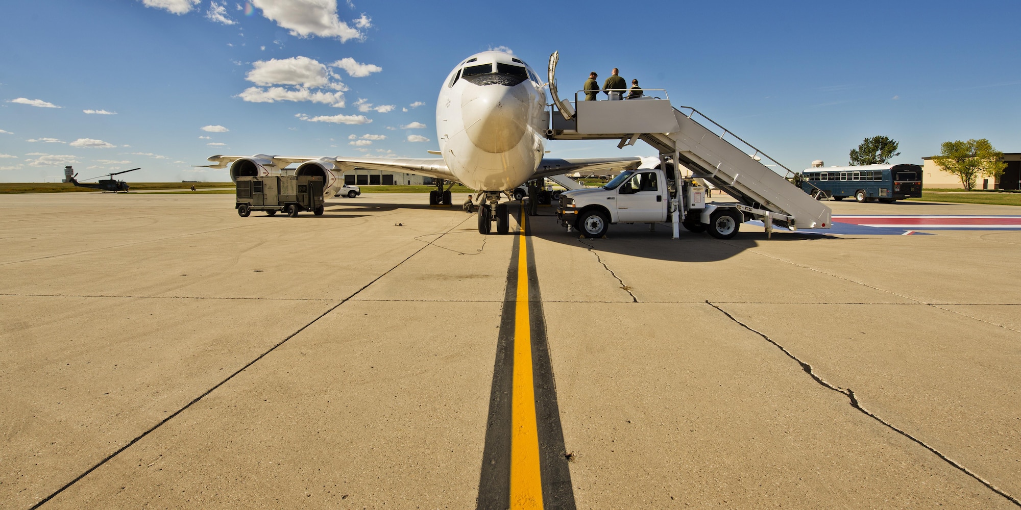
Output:
<path fill-rule="evenodd" d="M 1019 14 L 1017 0 L 3 2 L 0 182 L 64 164 L 227 181 L 189 166 L 213 154 L 429 157 L 441 82 L 497 47 L 540 75 L 560 50 L 562 94 L 620 67 L 795 169 L 846 164 L 875 135 L 901 142 L 895 162 L 970 138 L 1021 152 Z"/>

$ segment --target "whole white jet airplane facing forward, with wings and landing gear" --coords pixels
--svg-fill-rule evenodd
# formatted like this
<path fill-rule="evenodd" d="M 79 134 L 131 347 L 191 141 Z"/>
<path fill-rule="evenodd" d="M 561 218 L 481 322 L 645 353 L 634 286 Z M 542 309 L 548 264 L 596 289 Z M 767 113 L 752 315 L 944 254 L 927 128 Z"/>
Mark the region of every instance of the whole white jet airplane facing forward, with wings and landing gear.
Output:
<path fill-rule="evenodd" d="M 479 233 L 508 232 L 507 205 L 514 190 L 529 180 L 575 171 L 610 172 L 637 168 L 638 157 L 544 158 L 548 112 L 546 87 L 535 70 L 514 55 L 485 51 L 458 63 L 440 88 L 436 101 L 436 137 L 442 158 L 286 157 L 256 154 L 224 156 L 208 168 L 227 168 L 239 176 L 279 175 L 297 163 L 296 175 L 322 175 L 327 197 L 343 185 L 342 172 L 354 168 L 428 175 L 437 180 L 430 204 L 451 204 L 450 187 L 460 183 L 477 193 Z M 444 190 L 444 184 L 448 184 Z M 469 205 L 466 202 L 466 205 Z"/>

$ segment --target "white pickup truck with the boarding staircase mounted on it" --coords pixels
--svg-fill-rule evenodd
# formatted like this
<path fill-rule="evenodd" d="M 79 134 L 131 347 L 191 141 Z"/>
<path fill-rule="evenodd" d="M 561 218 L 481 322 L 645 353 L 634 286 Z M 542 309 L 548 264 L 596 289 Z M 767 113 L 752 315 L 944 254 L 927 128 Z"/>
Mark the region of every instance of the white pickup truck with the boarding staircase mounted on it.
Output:
<path fill-rule="evenodd" d="M 681 181 L 681 224 L 691 232 L 706 232 L 730 239 L 744 222 L 742 212 L 751 208 L 738 203 L 706 203 L 706 188 L 690 178 Z M 587 238 L 600 238 L 615 223 L 670 221 L 673 180 L 661 169 L 639 168 L 617 175 L 601 188 L 572 190 L 561 194 L 556 217 L 570 232 L 577 228 Z"/>

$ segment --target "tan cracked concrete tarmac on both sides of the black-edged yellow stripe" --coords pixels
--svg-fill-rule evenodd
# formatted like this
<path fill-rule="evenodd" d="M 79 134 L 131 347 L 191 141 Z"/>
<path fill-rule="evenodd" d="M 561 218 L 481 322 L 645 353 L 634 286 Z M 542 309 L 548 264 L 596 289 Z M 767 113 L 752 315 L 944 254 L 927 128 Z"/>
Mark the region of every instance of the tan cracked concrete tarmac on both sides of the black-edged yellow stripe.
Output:
<path fill-rule="evenodd" d="M 516 236 L 424 194 L 233 200 L 0 196 L 0 508 L 475 507 Z M 1021 507 L 1021 232 L 540 214 L 577 508 Z"/>

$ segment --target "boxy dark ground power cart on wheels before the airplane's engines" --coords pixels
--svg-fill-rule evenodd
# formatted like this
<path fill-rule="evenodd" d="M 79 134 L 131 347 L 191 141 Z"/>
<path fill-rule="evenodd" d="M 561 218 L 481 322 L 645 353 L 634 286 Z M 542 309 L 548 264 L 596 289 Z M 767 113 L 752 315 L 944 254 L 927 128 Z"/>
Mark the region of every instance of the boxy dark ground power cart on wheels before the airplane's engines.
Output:
<path fill-rule="evenodd" d="M 286 212 L 294 217 L 299 211 L 323 214 L 323 177 L 312 175 L 278 175 L 238 177 L 237 200 L 234 207 L 239 216 L 251 211 L 265 211 L 271 216 Z"/>

